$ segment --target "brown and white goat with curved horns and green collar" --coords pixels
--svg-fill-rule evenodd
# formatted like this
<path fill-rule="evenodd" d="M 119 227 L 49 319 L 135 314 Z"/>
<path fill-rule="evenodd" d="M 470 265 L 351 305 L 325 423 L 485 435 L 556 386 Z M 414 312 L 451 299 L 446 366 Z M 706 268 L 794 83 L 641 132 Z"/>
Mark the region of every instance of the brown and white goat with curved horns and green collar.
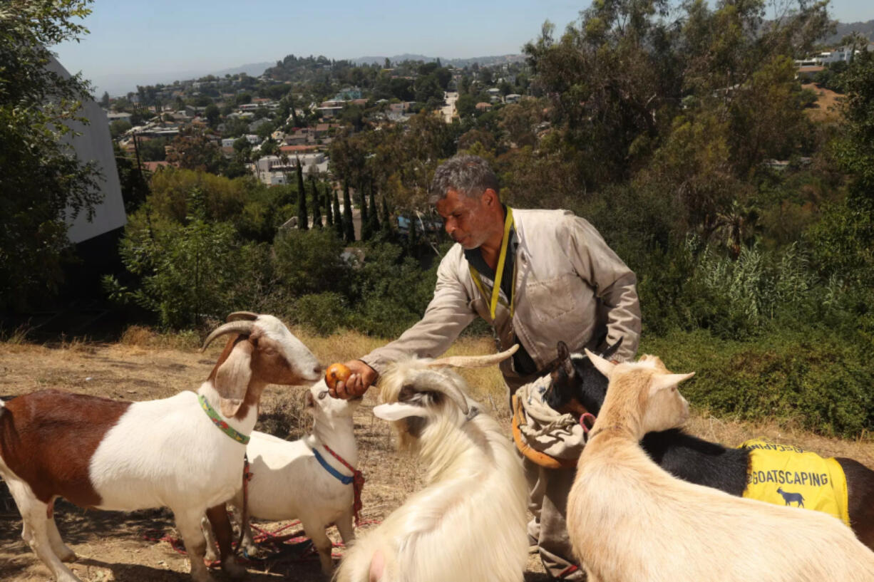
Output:
<path fill-rule="evenodd" d="M 78 580 L 62 564 L 76 555 L 54 523 L 57 497 L 98 509 L 169 507 L 197 582 L 212 579 L 200 531 L 207 512 L 222 532 L 225 572 L 243 573 L 230 552 L 224 502 L 242 478 L 246 446 L 218 423 L 251 433 L 268 384 L 315 382 L 321 367 L 273 315 L 238 312 L 228 319 L 206 338 L 204 348 L 232 334 L 197 393 L 123 402 L 44 390 L 0 405 L 0 476 L 21 512 L 24 541 L 57 582 Z M 218 421 L 207 416 L 201 397 L 218 411 Z"/>

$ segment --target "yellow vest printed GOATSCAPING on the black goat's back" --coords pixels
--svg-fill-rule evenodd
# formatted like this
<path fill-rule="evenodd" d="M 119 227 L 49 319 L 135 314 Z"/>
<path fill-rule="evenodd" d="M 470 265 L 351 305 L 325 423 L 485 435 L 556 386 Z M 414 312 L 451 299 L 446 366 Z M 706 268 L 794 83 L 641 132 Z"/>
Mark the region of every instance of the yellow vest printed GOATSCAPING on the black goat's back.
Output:
<path fill-rule="evenodd" d="M 850 525 L 847 478 L 837 461 L 764 439 L 747 440 L 740 447 L 750 451 L 745 497 L 815 509 Z"/>

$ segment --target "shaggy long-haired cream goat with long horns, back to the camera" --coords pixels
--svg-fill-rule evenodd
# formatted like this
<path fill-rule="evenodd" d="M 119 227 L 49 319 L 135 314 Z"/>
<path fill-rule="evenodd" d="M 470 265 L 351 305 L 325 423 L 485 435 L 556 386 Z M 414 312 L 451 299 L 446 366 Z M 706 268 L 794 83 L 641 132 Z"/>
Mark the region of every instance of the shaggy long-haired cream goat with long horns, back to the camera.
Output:
<path fill-rule="evenodd" d="M 510 440 L 465 394 L 454 366 L 509 357 L 412 359 L 380 380 L 373 413 L 393 421 L 402 447 L 427 465 L 427 485 L 340 563 L 341 582 L 521 582 L 527 562 L 525 480 Z"/>

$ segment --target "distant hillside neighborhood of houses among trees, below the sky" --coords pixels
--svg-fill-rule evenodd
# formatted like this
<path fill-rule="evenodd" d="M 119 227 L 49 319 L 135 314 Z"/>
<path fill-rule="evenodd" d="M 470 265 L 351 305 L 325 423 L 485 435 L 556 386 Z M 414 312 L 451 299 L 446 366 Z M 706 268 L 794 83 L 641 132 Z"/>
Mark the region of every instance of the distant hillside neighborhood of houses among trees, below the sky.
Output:
<path fill-rule="evenodd" d="M 378 131 L 416 114 L 451 124 L 529 93 L 522 55 L 470 60 L 465 66 L 442 66 L 440 59 L 356 65 L 289 55 L 258 77 L 207 75 L 138 86 L 117 97 L 105 93 L 101 106 L 114 141 L 138 169 L 196 169 L 191 156 L 202 152 L 189 152 L 186 144 L 198 142 L 220 152 L 210 168 L 216 173 L 288 184 L 297 164 L 304 176 L 328 176 L 338 135 Z"/>

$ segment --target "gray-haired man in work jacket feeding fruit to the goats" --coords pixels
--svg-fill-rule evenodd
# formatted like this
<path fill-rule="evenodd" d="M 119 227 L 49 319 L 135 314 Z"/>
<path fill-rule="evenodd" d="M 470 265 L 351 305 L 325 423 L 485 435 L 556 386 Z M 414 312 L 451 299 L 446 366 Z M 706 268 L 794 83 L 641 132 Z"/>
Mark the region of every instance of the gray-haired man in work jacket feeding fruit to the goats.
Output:
<path fill-rule="evenodd" d="M 504 206 L 495 174 L 477 156 L 455 156 L 437 169 L 432 202 L 457 243 L 440 261 L 434 299 L 397 340 L 347 362 L 352 374 L 332 395 L 363 394 L 399 358 L 440 356 L 477 315 L 495 329 L 500 350 L 519 344 L 501 364 L 510 391 L 544 370 L 558 340 L 595 349 L 606 331 L 607 343 L 622 338 L 614 357 L 635 356 L 641 331 L 635 274 L 586 220 L 570 211 Z M 532 543 L 552 576 L 583 579 L 565 531 L 573 469 L 524 464 L 535 514 Z"/>

